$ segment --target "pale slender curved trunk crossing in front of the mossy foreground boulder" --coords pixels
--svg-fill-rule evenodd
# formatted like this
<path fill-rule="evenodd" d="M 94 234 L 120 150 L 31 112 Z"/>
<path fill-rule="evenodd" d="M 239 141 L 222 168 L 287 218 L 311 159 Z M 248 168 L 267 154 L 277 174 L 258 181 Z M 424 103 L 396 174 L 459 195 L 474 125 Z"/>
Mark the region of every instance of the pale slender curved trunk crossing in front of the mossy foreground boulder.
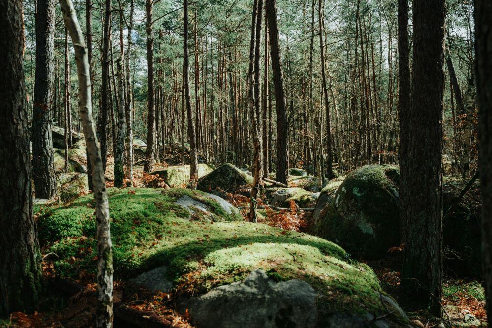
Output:
<path fill-rule="evenodd" d="M 84 35 L 71 0 L 59 0 L 63 19 L 72 38 L 79 80 L 79 109 L 89 159 L 92 164 L 92 182 L 97 217 L 97 316 L 96 327 L 113 326 L 113 251 L 109 226 L 109 204 L 104 181 L 101 149 L 95 132 L 91 105 L 91 78 Z"/>

